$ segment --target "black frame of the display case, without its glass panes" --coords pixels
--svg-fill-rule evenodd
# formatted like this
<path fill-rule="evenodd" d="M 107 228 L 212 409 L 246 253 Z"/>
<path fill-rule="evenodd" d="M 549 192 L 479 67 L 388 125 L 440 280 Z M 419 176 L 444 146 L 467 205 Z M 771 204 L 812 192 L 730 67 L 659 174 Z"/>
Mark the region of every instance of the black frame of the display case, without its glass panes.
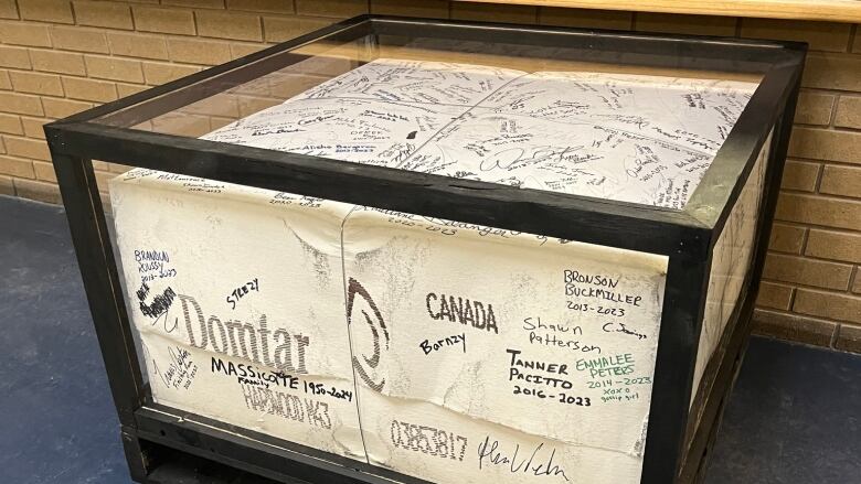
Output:
<path fill-rule="evenodd" d="M 584 61 L 762 75 L 712 166 L 681 211 L 521 190 L 126 128 L 308 58 L 297 47 L 371 35 L 564 46 Z M 273 478 L 319 483 L 421 480 L 151 401 L 141 378 L 92 160 L 543 234 L 669 257 L 642 483 L 681 469 L 711 251 L 774 127 L 746 294 L 750 313 L 791 129 L 806 45 L 363 15 L 45 126 L 129 465 L 145 480 L 157 445 Z M 178 160 L 182 160 L 181 162 Z M 583 230 L 581 227 L 589 227 Z M 750 314 L 748 314 L 750 315 Z M 746 326 L 744 326 L 746 327 Z M 746 333 L 742 331 L 742 340 Z M 736 337 L 737 338 L 737 337 Z M 737 345 L 736 345 L 737 346 Z M 737 354 L 737 348 L 734 349 Z M 734 358 L 735 356 L 733 356 Z M 719 372 L 720 373 L 720 372 Z M 156 447 L 153 447 L 156 445 Z"/>

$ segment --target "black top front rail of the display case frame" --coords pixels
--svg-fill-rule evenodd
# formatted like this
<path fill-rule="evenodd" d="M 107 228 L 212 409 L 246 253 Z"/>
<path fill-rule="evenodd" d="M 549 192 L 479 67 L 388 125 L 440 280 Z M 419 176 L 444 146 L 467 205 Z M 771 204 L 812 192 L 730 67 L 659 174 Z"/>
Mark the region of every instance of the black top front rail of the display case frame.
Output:
<path fill-rule="evenodd" d="M 227 183 L 653 254 L 709 246 L 678 211 L 94 123 L 45 131 L 63 153 Z"/>

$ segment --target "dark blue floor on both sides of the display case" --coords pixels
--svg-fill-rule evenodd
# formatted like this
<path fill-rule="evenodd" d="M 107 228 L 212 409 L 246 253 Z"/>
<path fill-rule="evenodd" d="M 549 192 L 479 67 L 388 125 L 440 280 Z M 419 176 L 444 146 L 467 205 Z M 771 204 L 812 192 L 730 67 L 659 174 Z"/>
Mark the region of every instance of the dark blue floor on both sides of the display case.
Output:
<path fill-rule="evenodd" d="M 62 208 L 0 196 L 0 483 L 128 483 Z M 708 484 L 861 483 L 861 357 L 754 338 Z"/>

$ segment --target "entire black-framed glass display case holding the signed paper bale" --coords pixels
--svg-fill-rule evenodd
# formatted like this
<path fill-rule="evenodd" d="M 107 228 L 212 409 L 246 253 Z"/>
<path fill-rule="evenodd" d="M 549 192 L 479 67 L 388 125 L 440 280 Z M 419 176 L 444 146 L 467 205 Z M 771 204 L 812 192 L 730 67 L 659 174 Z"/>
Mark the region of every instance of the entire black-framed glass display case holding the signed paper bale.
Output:
<path fill-rule="evenodd" d="M 132 476 L 697 480 L 805 51 L 360 17 L 47 125 Z"/>

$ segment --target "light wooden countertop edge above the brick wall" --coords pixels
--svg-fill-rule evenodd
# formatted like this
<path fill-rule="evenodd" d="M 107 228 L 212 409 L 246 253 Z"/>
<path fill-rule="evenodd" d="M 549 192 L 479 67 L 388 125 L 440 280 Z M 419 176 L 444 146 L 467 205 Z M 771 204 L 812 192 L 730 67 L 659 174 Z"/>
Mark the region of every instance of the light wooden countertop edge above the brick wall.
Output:
<path fill-rule="evenodd" d="M 469 0 L 578 9 L 861 22 L 861 0 Z"/>

